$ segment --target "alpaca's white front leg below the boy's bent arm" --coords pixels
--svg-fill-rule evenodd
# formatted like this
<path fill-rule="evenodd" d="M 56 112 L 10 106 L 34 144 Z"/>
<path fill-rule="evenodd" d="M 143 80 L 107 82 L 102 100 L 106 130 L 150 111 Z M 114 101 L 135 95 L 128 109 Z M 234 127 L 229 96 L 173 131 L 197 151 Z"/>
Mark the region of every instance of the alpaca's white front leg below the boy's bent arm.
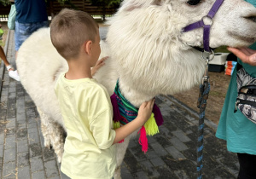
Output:
<path fill-rule="evenodd" d="M 114 172 L 113 178 L 119 179 L 121 178 L 121 165 L 125 158 L 125 152 L 128 147 L 131 136 L 125 138 L 123 143 L 116 144 L 116 159 L 117 159 L 117 168 Z"/>

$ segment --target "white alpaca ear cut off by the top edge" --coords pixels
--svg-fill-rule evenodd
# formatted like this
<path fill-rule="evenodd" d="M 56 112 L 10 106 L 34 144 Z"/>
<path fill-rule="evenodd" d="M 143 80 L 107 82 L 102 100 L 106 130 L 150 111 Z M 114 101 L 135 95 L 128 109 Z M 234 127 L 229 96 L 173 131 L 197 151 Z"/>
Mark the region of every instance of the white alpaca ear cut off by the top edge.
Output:
<path fill-rule="evenodd" d="M 134 9 L 146 8 L 150 5 L 160 5 L 162 0 L 130 0 L 122 3 L 121 9 L 132 11 Z"/>

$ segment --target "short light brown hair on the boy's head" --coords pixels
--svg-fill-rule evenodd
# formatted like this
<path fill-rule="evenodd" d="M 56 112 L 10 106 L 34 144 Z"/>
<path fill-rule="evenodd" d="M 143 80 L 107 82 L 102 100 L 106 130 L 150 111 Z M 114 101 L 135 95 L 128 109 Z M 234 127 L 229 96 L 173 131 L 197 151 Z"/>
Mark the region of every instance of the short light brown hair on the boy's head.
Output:
<path fill-rule="evenodd" d="M 62 9 L 50 23 L 50 38 L 55 49 L 66 60 L 76 58 L 85 41 L 95 42 L 96 21 L 83 11 Z"/>

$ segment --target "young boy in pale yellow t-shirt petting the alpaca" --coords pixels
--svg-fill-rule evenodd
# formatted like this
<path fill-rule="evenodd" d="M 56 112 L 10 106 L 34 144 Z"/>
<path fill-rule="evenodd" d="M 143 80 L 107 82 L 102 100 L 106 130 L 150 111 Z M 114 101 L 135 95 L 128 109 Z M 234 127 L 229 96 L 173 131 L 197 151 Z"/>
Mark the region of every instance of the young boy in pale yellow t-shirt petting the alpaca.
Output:
<path fill-rule="evenodd" d="M 108 91 L 92 78 L 90 71 L 101 53 L 96 21 L 82 11 L 63 9 L 51 22 L 50 37 L 69 66 L 55 84 L 67 129 L 61 171 L 71 178 L 113 178 L 113 144 L 143 126 L 152 113 L 154 100 L 144 102 L 131 123 L 112 130 Z"/>

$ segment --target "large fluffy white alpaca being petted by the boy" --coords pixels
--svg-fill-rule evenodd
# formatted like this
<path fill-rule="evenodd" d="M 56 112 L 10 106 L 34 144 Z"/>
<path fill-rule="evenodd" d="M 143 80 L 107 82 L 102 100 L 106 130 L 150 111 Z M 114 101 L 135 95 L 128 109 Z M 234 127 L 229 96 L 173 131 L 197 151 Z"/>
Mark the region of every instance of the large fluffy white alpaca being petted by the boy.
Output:
<path fill-rule="evenodd" d="M 191 0 L 190 0 L 191 1 Z M 201 46 L 202 29 L 183 32 L 183 27 L 201 20 L 214 0 L 125 0 L 108 22 L 107 42 L 102 56 L 110 56 L 95 78 L 109 95 L 119 78 L 125 98 L 139 107 L 155 95 L 172 95 L 201 82 L 205 61 L 191 46 Z M 242 0 L 225 0 L 215 15 L 210 46 L 247 46 L 256 41 L 256 9 Z M 253 19 L 254 18 L 254 19 Z M 63 129 L 55 97 L 55 79 L 67 71 L 67 62 L 49 38 L 49 29 L 32 34 L 20 47 L 17 68 L 21 84 L 38 107 L 44 145 L 51 144 L 61 161 Z M 62 129 L 63 128 L 63 129 Z M 134 135 L 137 133 L 135 132 Z M 118 144 L 118 165 L 122 163 L 131 136 Z M 120 177 L 116 172 L 115 177 Z"/>

